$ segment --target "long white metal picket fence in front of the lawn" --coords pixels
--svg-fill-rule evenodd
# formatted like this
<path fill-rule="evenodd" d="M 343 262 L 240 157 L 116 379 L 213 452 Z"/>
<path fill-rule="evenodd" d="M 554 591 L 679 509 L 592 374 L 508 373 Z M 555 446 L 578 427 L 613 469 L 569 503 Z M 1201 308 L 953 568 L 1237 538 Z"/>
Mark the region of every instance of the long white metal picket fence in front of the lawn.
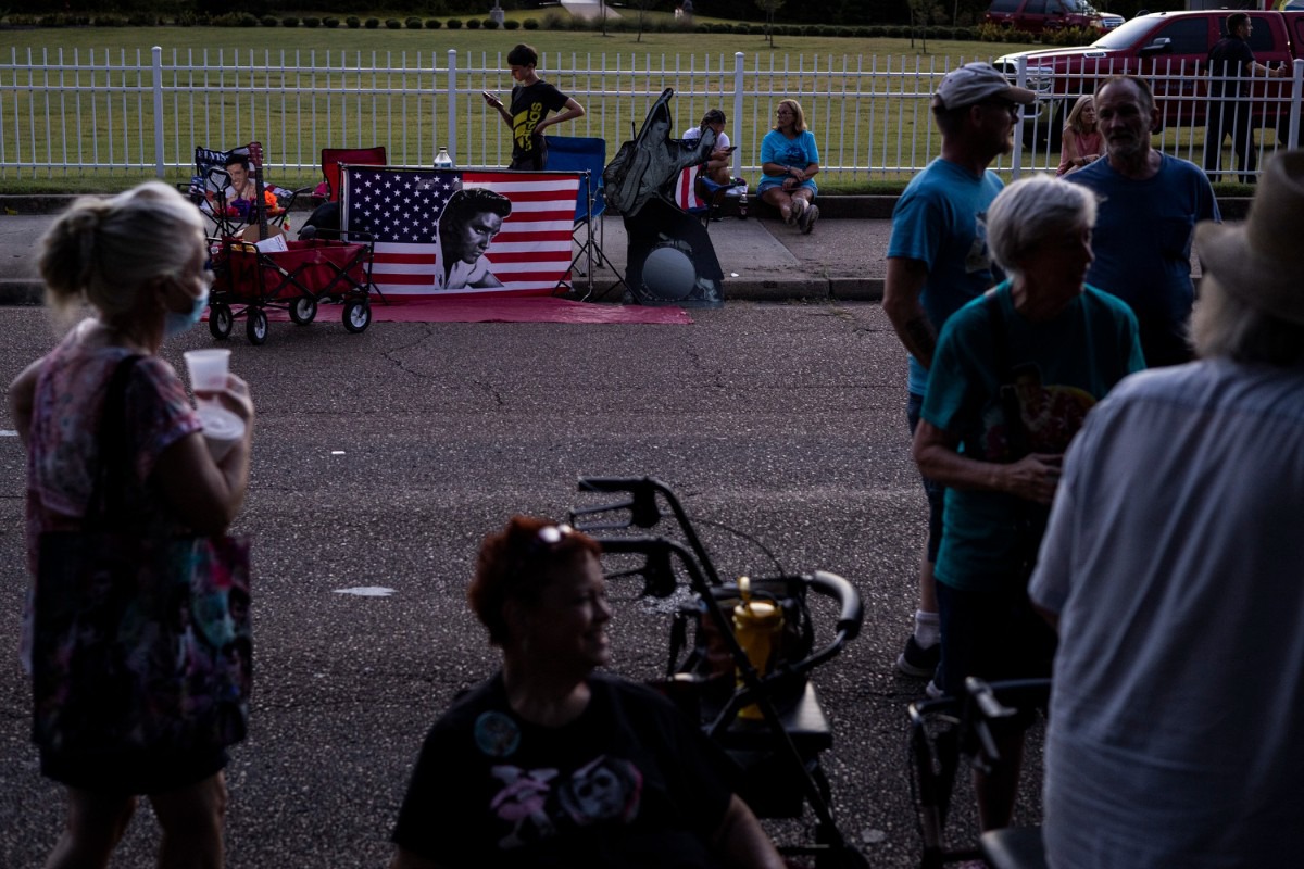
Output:
<path fill-rule="evenodd" d="M 441 64 L 441 60 L 443 61 Z M 986 59 L 979 59 L 986 60 Z M 797 99 L 815 132 L 824 177 L 865 181 L 908 177 L 940 150 L 928 98 L 947 61 L 932 57 L 554 53 L 541 69 L 587 115 L 562 135 L 601 137 L 609 155 L 630 138 L 665 87 L 677 129 L 695 126 L 709 107 L 729 115 L 735 171 L 755 175 L 760 139 L 773 104 Z M 429 165 L 439 146 L 459 164 L 505 165 L 511 134 L 485 107 L 482 90 L 510 87 L 501 55 L 347 51 L 80 52 L 12 48 L 0 56 L 0 180 L 136 175 L 183 178 L 196 147 L 230 149 L 261 141 L 269 177 L 305 178 L 317 172 L 323 147 L 386 146 L 398 165 Z M 1037 70 L 1034 70 L 1035 73 Z M 1104 74 L 1112 70 L 1093 70 Z M 1201 162 L 1209 98 L 1183 90 L 1193 81 L 1180 66 L 1151 76 L 1161 93 L 1181 91 L 1159 146 Z M 1275 122 L 1262 122 L 1261 152 L 1299 142 L 1304 61 L 1295 61 L 1287 87 L 1265 96 Z M 1025 66 L 1012 74 L 1047 99 L 1016 130 L 1016 151 L 999 168 L 1054 168 L 1058 147 L 1046 133 L 1063 122 L 1063 100 L 1045 77 Z M 1076 82 L 1090 87 L 1090 82 Z M 1171 87 L 1170 87 L 1171 85 Z M 1189 90 L 1189 89 L 1188 89 Z M 1176 99 L 1176 98 L 1175 98 Z M 1185 122 L 1183 121 L 1185 117 Z M 1198 122 L 1196 122 L 1198 120 Z M 1058 138 L 1058 137 L 1051 137 Z M 1228 154 L 1223 172 L 1230 175 Z"/>

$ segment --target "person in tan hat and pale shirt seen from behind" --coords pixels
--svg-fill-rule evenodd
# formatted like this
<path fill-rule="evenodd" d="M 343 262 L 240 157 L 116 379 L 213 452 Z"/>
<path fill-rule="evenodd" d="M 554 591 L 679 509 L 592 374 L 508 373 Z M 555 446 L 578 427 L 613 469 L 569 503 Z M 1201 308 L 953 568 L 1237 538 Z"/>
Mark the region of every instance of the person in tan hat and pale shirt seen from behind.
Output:
<path fill-rule="evenodd" d="M 1054 866 L 1304 855 L 1304 151 L 1201 223 L 1200 362 L 1125 379 L 1064 463 L 1033 601 L 1060 632 Z"/>

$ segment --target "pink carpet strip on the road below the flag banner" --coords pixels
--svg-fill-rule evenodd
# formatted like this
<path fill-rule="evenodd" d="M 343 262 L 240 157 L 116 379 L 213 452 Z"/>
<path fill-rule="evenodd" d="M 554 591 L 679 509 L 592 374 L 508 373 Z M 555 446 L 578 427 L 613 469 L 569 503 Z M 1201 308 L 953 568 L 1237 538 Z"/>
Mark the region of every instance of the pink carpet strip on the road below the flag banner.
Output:
<path fill-rule="evenodd" d="M 336 321 L 339 305 L 321 305 L 317 319 Z M 267 309 L 267 319 L 288 322 L 284 310 Z M 692 323 L 682 307 L 645 307 L 643 305 L 610 305 L 575 302 L 549 296 L 463 296 L 429 301 L 403 301 L 386 305 L 372 302 L 376 323 Z"/>

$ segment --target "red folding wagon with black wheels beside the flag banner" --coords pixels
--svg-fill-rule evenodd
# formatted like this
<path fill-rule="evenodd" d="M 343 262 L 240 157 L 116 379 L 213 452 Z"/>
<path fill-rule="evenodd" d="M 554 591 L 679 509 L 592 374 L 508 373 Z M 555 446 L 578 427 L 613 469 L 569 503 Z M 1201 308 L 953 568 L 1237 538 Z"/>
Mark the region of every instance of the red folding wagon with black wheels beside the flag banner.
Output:
<path fill-rule="evenodd" d="M 287 250 L 259 250 L 236 237 L 213 242 L 214 283 L 209 331 L 231 335 L 245 318 L 250 344 L 267 340 L 266 309 L 283 309 L 300 326 L 317 317 L 322 301 L 344 306 L 344 328 L 361 332 L 372 323 L 372 244 L 287 241 Z"/>

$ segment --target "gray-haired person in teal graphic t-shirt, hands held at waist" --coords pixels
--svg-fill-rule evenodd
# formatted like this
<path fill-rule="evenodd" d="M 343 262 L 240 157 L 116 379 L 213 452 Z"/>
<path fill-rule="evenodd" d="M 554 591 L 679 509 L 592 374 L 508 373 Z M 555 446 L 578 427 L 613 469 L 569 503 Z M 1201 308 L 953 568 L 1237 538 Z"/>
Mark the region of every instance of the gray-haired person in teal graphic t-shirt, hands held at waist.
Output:
<path fill-rule="evenodd" d="M 1054 634 L 1028 577 L 1086 412 L 1144 366 L 1136 318 L 1084 283 L 1095 201 L 1048 177 L 1017 181 L 987 210 L 987 241 L 1009 279 L 961 307 L 938 340 L 914 436 L 921 472 L 947 486 L 935 576 L 943 691 L 968 676 L 1050 674 Z M 983 829 L 1007 826 L 1022 730 L 999 734 L 1013 762 L 975 775 Z"/>

